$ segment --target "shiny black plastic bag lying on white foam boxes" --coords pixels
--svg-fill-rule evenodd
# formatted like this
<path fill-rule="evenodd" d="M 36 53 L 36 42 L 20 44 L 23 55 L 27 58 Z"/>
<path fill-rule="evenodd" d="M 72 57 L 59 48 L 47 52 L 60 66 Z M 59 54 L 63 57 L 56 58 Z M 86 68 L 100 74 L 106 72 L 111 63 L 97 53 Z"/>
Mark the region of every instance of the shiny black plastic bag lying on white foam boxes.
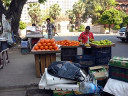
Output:
<path fill-rule="evenodd" d="M 65 79 L 75 80 L 75 81 L 84 81 L 84 76 L 80 72 L 80 68 L 74 65 L 71 62 L 53 62 L 48 67 L 48 73 Z"/>

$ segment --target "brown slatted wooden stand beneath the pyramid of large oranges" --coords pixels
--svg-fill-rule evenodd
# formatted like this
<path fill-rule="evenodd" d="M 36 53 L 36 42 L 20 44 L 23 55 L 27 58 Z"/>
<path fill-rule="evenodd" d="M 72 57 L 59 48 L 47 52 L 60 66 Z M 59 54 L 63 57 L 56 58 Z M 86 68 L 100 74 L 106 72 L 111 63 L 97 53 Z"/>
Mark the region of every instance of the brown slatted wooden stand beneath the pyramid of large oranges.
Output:
<path fill-rule="evenodd" d="M 61 53 L 61 51 L 31 51 L 31 53 L 34 54 L 35 58 L 36 76 L 40 78 L 45 68 L 56 61 L 56 53 Z"/>

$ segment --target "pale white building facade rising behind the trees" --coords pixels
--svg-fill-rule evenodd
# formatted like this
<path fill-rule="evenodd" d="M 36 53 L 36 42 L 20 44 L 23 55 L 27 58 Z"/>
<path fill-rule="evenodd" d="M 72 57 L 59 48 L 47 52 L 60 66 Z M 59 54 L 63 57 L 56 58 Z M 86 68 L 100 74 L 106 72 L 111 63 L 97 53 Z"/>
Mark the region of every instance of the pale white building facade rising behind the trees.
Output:
<path fill-rule="evenodd" d="M 72 10 L 73 9 L 73 4 L 75 2 L 77 2 L 78 0 L 47 0 L 44 4 L 40 4 L 40 8 L 43 12 L 42 15 L 46 15 L 49 13 L 49 8 L 51 5 L 53 4 L 58 4 L 61 8 L 61 15 L 65 15 L 65 11 L 67 10 Z M 38 2 L 38 0 L 28 0 L 27 3 L 24 5 L 23 7 L 23 11 L 21 14 L 21 21 L 26 22 L 26 23 L 30 23 L 31 22 L 31 18 L 28 15 L 28 3 L 34 3 L 34 2 Z"/>

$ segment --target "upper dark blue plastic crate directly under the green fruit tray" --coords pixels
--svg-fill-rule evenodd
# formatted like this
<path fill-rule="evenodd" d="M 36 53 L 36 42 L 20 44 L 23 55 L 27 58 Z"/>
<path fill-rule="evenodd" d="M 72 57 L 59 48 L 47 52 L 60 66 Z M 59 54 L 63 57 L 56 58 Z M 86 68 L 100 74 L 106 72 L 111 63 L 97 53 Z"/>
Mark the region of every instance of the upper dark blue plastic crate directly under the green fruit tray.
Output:
<path fill-rule="evenodd" d="M 103 57 L 106 55 L 111 55 L 111 47 L 102 47 L 102 48 L 91 48 L 92 54 L 96 57 Z"/>

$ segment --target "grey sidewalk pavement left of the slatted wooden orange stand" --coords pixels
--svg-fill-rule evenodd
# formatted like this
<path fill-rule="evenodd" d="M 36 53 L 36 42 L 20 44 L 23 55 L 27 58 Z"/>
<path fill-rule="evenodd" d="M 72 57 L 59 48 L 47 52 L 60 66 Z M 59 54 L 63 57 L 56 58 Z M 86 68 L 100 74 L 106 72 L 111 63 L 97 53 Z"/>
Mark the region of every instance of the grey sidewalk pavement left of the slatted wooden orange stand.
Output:
<path fill-rule="evenodd" d="M 34 55 L 22 55 L 18 48 L 9 49 L 8 53 L 10 63 L 0 69 L 0 90 L 38 86 L 40 78 L 36 77 Z"/>

